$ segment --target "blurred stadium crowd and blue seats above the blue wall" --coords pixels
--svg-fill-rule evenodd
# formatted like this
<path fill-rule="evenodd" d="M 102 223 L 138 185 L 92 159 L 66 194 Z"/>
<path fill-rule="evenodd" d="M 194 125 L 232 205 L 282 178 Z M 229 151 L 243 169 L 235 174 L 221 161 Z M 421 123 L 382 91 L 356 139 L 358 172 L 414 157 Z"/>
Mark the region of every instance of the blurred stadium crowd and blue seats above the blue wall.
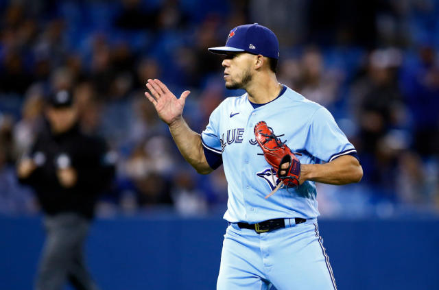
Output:
<path fill-rule="evenodd" d="M 226 90 L 229 29 L 259 22 L 278 35 L 278 80 L 326 106 L 355 145 L 360 184 L 319 185 L 325 215 L 439 210 L 439 1 L 0 1 L 0 213 L 39 208 L 15 165 L 44 124 L 45 99 L 67 89 L 80 124 L 117 154 L 98 214 L 225 208 L 222 169 L 200 176 L 143 95 L 160 78 L 188 97 L 201 132 Z M 266 13 L 270 11 L 270 13 Z"/>

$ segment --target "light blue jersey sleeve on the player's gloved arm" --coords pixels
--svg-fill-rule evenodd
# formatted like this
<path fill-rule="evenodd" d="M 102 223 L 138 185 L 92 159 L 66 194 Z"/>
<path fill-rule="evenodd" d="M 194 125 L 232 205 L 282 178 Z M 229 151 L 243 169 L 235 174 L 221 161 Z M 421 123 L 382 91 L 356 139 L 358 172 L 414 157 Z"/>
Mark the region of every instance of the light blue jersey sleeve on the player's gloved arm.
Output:
<path fill-rule="evenodd" d="M 340 130 L 329 110 L 323 107 L 311 118 L 305 149 L 324 162 L 343 155 L 352 155 L 358 159 L 355 147 Z"/>

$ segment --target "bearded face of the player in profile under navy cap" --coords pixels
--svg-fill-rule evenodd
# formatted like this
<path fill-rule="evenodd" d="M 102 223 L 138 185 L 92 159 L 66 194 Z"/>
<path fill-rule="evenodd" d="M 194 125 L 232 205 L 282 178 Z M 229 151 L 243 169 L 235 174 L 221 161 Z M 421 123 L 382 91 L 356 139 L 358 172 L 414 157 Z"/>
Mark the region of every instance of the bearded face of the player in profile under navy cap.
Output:
<path fill-rule="evenodd" d="M 254 56 L 250 53 L 229 53 L 222 62 L 226 88 L 246 88 L 252 80 L 251 64 Z"/>

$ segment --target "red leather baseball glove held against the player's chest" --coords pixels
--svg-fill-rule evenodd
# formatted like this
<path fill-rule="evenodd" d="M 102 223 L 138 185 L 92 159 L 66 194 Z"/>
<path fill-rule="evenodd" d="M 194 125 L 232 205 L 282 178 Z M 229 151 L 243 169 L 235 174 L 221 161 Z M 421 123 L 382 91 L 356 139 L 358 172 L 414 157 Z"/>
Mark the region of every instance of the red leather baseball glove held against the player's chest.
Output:
<path fill-rule="evenodd" d="M 256 136 L 256 141 L 262 149 L 265 160 L 267 160 L 268 164 L 270 164 L 276 171 L 277 178 L 281 180 L 279 184 L 283 183 L 285 186 L 289 187 L 298 186 L 300 178 L 300 161 L 293 154 L 291 149 L 279 140 L 278 136 L 274 134 L 272 128 L 268 127 L 265 121 L 259 121 L 254 126 L 254 136 Z M 288 169 L 281 169 L 283 163 L 289 164 Z M 281 174 L 282 170 L 285 171 L 284 174 Z M 270 195 L 272 195 L 278 187 L 276 187 Z"/>

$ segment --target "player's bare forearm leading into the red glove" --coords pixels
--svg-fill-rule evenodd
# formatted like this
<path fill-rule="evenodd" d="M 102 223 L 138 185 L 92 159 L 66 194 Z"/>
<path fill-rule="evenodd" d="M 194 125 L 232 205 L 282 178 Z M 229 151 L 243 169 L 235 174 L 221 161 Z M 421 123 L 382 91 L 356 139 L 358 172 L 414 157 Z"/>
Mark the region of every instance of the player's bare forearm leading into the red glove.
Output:
<path fill-rule="evenodd" d="M 312 180 L 327 184 L 342 185 L 359 182 L 363 177 L 363 169 L 357 158 L 340 156 L 325 164 L 301 165 L 300 179 Z"/>

